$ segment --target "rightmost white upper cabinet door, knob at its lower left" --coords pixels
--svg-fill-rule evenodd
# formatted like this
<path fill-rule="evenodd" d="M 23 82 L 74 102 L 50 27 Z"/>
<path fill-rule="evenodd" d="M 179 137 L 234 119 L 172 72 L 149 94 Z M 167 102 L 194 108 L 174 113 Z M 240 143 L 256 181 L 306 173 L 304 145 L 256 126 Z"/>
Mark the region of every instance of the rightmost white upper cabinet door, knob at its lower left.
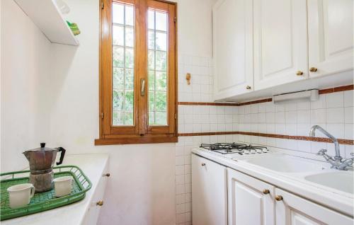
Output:
<path fill-rule="evenodd" d="M 353 0 L 307 4 L 310 77 L 353 69 Z"/>

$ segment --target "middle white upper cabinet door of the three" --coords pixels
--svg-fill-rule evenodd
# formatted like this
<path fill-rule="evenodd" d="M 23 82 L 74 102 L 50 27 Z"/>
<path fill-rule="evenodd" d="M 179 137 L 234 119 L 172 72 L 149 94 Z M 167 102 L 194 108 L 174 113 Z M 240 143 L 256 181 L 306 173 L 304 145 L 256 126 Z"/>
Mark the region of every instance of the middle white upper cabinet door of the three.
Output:
<path fill-rule="evenodd" d="M 254 89 L 307 79 L 307 1 L 253 0 Z"/>

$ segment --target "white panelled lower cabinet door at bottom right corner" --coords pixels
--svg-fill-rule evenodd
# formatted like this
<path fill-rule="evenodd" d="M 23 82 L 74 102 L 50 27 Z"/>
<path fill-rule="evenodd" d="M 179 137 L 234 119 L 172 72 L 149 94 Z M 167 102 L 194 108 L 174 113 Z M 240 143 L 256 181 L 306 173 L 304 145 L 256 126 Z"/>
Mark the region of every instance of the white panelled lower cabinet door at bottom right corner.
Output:
<path fill-rule="evenodd" d="M 353 225 L 353 219 L 319 204 L 275 188 L 277 225 Z"/>

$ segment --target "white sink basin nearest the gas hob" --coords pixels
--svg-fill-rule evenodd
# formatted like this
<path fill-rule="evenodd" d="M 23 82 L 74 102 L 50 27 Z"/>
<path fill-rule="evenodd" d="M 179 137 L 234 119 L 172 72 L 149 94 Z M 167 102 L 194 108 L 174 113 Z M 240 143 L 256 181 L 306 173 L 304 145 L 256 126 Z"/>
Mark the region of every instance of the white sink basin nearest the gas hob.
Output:
<path fill-rule="evenodd" d="M 262 155 L 246 158 L 242 161 L 283 173 L 304 173 L 324 169 L 324 166 L 317 161 L 287 155 Z"/>

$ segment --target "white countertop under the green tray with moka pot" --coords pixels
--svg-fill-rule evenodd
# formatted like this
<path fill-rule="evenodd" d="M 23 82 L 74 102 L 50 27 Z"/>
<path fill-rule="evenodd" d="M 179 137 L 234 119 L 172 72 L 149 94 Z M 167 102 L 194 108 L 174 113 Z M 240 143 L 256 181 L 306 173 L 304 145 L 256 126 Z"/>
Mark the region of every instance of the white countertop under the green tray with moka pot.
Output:
<path fill-rule="evenodd" d="M 64 207 L 50 209 L 44 212 L 30 214 L 24 217 L 7 219 L 1 221 L 1 225 L 26 224 L 26 225 L 78 225 L 84 220 L 86 212 L 90 207 L 93 193 L 95 192 L 98 180 L 103 174 L 103 169 L 108 163 L 108 154 L 80 154 L 66 155 L 65 165 L 79 166 L 85 175 L 91 180 L 92 187 L 86 192 L 84 200 L 68 204 Z"/>

